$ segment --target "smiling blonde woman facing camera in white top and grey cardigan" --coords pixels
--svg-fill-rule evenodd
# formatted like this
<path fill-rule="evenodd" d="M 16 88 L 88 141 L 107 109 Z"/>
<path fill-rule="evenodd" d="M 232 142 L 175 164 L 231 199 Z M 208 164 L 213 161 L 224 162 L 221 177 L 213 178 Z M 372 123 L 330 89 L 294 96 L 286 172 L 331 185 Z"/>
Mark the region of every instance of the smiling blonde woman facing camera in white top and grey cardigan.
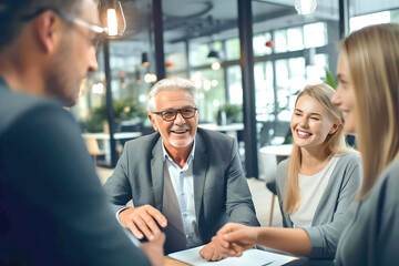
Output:
<path fill-rule="evenodd" d="M 227 256 L 255 244 L 311 258 L 332 259 L 344 227 L 355 215 L 360 158 L 345 144 L 335 91 L 308 85 L 290 120 L 294 147 L 278 165 L 277 195 L 285 228 L 225 225 L 213 242 Z"/>

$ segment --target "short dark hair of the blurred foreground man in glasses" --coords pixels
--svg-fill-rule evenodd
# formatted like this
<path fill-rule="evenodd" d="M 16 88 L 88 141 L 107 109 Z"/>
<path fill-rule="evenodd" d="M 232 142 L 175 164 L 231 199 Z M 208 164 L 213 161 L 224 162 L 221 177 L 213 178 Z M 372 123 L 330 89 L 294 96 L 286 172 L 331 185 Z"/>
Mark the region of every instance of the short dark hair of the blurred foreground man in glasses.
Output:
<path fill-rule="evenodd" d="M 42 8 L 53 8 L 80 14 L 81 0 L 1 0 L 0 1 L 0 51 L 10 45 L 21 33 L 22 17 Z"/>

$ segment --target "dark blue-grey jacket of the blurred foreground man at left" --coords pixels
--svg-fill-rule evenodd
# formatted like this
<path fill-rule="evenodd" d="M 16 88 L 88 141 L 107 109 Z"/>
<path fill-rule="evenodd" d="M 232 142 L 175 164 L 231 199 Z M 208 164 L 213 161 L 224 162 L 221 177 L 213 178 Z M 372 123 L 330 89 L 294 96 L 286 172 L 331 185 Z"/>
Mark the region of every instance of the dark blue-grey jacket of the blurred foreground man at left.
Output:
<path fill-rule="evenodd" d="M 0 265 L 149 265 L 121 229 L 72 115 L 0 78 Z"/>

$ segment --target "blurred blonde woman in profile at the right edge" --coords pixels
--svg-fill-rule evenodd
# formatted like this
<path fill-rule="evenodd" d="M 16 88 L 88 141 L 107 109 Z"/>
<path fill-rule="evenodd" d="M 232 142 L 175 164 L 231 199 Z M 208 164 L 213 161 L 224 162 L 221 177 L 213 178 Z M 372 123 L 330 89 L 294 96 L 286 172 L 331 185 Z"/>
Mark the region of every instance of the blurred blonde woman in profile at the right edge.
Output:
<path fill-rule="evenodd" d="M 399 264 L 399 24 L 364 28 L 340 45 L 332 103 L 357 133 L 364 180 L 337 265 Z"/>

